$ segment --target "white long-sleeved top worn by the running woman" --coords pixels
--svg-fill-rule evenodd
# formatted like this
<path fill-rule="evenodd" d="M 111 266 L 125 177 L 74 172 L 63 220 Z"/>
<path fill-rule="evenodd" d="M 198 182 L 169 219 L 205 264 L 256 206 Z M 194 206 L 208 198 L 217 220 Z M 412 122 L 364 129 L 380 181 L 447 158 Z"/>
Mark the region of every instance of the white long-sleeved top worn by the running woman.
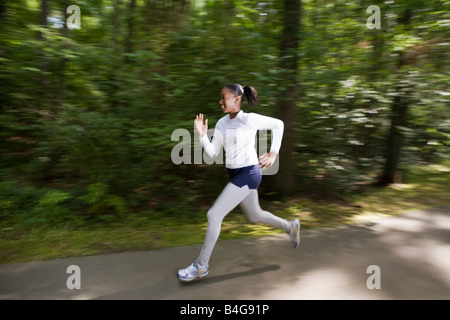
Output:
<path fill-rule="evenodd" d="M 230 119 L 230 115 L 220 118 L 214 128 L 212 141 L 205 134 L 200 137 L 200 143 L 211 158 L 216 157 L 223 146 L 226 168 L 256 165 L 259 162 L 255 146 L 258 130 L 272 130 L 270 152 L 278 153 L 283 138 L 283 121 L 242 110 L 233 119 Z"/>

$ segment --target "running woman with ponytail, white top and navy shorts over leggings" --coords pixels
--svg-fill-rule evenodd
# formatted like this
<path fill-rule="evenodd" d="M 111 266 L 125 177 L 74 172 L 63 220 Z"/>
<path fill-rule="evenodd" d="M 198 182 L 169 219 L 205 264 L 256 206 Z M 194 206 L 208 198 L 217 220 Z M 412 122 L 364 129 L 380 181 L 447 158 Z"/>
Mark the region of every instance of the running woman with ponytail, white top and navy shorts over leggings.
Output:
<path fill-rule="evenodd" d="M 247 218 L 254 223 L 264 223 L 284 230 L 289 234 L 294 248 L 300 244 L 300 220 L 287 221 L 261 209 L 258 200 L 258 186 L 262 179 L 261 169 L 270 168 L 275 162 L 281 147 L 284 124 L 281 120 L 245 113 L 241 110 L 242 100 L 248 105 L 258 103 L 258 93 L 251 86 L 228 84 L 220 93 L 219 105 L 223 113 L 214 129 L 212 141 L 207 136 L 208 119 L 203 114 L 196 116 L 194 124 L 199 133 L 200 142 L 211 158 L 216 157 L 221 147 L 225 150 L 225 166 L 230 182 L 208 210 L 208 227 L 205 241 L 196 261 L 178 271 L 182 281 L 192 281 L 208 275 L 209 259 L 219 238 L 222 220 L 238 204 Z M 255 148 L 257 130 L 272 130 L 270 152 L 259 159 Z"/>

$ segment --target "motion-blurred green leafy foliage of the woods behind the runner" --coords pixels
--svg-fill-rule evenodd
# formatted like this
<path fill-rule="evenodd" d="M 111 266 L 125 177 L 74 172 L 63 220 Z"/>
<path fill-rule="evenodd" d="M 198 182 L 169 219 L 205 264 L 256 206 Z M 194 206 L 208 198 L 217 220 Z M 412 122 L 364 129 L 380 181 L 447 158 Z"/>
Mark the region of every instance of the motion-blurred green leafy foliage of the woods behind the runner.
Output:
<path fill-rule="evenodd" d="M 260 105 L 247 111 L 275 116 L 291 81 L 279 68 L 282 1 L 152 0 L 134 9 L 79 1 L 79 30 L 42 26 L 40 1 L 5 3 L 3 218 L 203 217 L 222 171 L 176 168 L 173 130 L 193 133 L 200 112 L 212 127 L 228 82 L 258 90 Z M 371 4 L 380 6 L 380 30 L 365 26 Z M 375 182 L 397 96 L 409 99 L 401 168 L 448 159 L 448 9 L 439 0 L 302 1 L 295 196 L 340 197 Z M 51 2 L 48 16 L 64 10 Z"/>

